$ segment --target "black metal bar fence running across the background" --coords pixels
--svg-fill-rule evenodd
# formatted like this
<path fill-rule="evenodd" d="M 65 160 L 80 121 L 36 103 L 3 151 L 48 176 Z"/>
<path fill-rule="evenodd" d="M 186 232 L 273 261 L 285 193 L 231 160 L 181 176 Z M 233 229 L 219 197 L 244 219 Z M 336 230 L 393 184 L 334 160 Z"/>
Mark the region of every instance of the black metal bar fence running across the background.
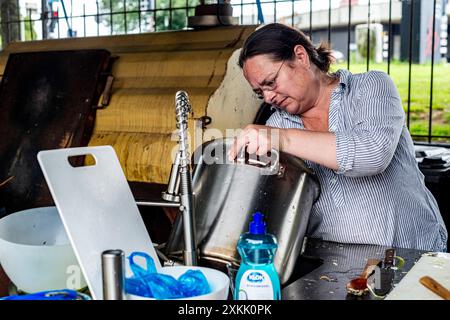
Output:
<path fill-rule="evenodd" d="M 214 1 L 211 0 L 209 3 Z M 3 30 L 6 28 L 6 31 L 9 31 L 13 26 L 18 26 L 23 41 L 180 30 L 187 28 L 187 17 L 195 14 L 195 7 L 200 1 L 37 0 L 37 2 L 42 5 L 25 10 L 21 8 L 21 14 L 16 18 L 8 17 L 7 21 L 2 21 Z M 207 0 L 202 2 L 208 3 Z M 447 93 L 450 96 L 448 88 L 450 85 L 440 83 L 439 99 L 442 101 L 439 101 L 437 111 L 436 107 L 433 107 L 436 104 L 435 84 L 439 80 L 435 69 L 437 63 L 439 66 L 446 66 L 448 46 L 446 42 L 448 20 L 440 25 L 440 34 L 444 37 L 436 37 L 436 25 L 439 26 L 436 19 L 442 20 L 442 17 L 447 16 L 444 10 L 447 2 L 448 0 L 231 0 L 230 4 L 233 7 L 233 16 L 239 24 L 281 22 L 302 29 L 315 43 L 327 41 L 333 48 L 340 47 L 344 56 L 341 66 L 351 71 L 356 67 L 361 69 L 361 66 L 364 70 L 360 71 L 381 67 L 391 74 L 393 66 L 397 67 L 398 61 L 403 61 L 402 74 L 407 76 L 407 83 L 403 86 L 402 98 L 406 105 L 404 107 L 407 125 L 413 138 L 416 141 L 448 144 L 450 98 L 446 97 Z M 431 43 L 428 43 L 430 47 L 428 58 L 421 61 L 421 53 L 416 52 L 415 44 L 417 33 L 421 30 L 420 19 L 423 16 L 424 3 L 430 6 L 428 11 L 432 18 L 427 25 L 427 32 L 431 32 L 432 36 L 425 36 L 428 37 L 428 42 L 431 39 Z M 399 8 L 401 8 L 400 18 Z M 379 22 L 382 22 L 383 29 L 381 64 L 373 61 L 373 47 L 371 47 L 373 43 L 371 37 L 374 37 L 372 27 L 380 24 Z M 365 24 L 363 29 L 366 28 L 367 31 L 364 33 L 359 28 L 358 32 L 365 37 L 363 42 L 366 46 L 362 50 L 365 54 L 355 49 L 356 28 L 362 23 Z M 78 26 L 76 29 L 75 25 Z M 10 32 L 2 33 L 4 37 L 9 34 Z M 394 42 L 402 43 L 400 51 L 398 43 Z M 359 57 L 358 61 L 355 55 L 363 58 Z M 437 62 L 437 59 L 440 61 Z M 419 113 L 412 108 L 415 101 L 412 87 L 416 81 L 413 70 L 416 65 L 422 65 L 421 70 L 428 73 L 428 83 L 420 83 L 420 88 L 424 91 L 428 87 L 429 95 L 425 100 L 422 98 L 418 102 L 419 109 L 422 110 Z M 420 81 L 423 81 L 423 78 L 421 79 Z M 417 126 L 417 123 L 420 126 Z"/>

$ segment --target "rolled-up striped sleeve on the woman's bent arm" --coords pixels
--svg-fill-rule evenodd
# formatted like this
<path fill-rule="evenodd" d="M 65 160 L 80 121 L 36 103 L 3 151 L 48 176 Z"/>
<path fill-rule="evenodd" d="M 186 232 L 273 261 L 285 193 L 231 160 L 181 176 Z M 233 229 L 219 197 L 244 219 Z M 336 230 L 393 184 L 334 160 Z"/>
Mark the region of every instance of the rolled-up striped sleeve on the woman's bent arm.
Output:
<path fill-rule="evenodd" d="M 387 74 L 370 72 L 362 83 L 350 115 L 352 125 L 335 132 L 336 173 L 353 177 L 388 167 L 405 123 L 399 94 Z"/>

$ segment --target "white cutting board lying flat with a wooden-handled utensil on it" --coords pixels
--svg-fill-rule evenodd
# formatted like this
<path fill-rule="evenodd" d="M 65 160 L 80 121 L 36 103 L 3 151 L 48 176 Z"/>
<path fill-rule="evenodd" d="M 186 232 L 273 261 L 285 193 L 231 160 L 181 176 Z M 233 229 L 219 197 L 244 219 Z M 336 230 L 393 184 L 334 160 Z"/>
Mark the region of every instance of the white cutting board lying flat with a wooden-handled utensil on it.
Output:
<path fill-rule="evenodd" d="M 386 297 L 386 300 L 442 300 L 419 280 L 430 276 L 450 290 L 450 253 L 425 253 Z"/>

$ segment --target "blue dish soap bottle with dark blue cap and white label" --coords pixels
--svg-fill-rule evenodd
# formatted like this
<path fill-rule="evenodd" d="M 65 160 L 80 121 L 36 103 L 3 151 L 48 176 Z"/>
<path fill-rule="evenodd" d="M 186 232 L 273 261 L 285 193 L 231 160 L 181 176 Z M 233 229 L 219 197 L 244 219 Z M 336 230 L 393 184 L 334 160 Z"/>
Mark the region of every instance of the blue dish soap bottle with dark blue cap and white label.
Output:
<path fill-rule="evenodd" d="M 236 275 L 234 300 L 280 300 L 280 280 L 273 264 L 278 248 L 275 236 L 266 233 L 264 215 L 253 214 L 249 232 L 239 238 L 241 266 Z"/>

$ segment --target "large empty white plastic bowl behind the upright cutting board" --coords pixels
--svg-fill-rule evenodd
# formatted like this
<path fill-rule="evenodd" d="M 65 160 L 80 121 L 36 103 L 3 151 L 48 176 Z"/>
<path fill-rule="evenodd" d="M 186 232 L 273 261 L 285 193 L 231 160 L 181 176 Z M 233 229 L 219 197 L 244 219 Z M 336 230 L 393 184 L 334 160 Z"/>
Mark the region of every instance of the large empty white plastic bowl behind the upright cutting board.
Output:
<path fill-rule="evenodd" d="M 26 293 L 86 286 L 56 207 L 19 211 L 0 219 L 0 264 Z"/>

